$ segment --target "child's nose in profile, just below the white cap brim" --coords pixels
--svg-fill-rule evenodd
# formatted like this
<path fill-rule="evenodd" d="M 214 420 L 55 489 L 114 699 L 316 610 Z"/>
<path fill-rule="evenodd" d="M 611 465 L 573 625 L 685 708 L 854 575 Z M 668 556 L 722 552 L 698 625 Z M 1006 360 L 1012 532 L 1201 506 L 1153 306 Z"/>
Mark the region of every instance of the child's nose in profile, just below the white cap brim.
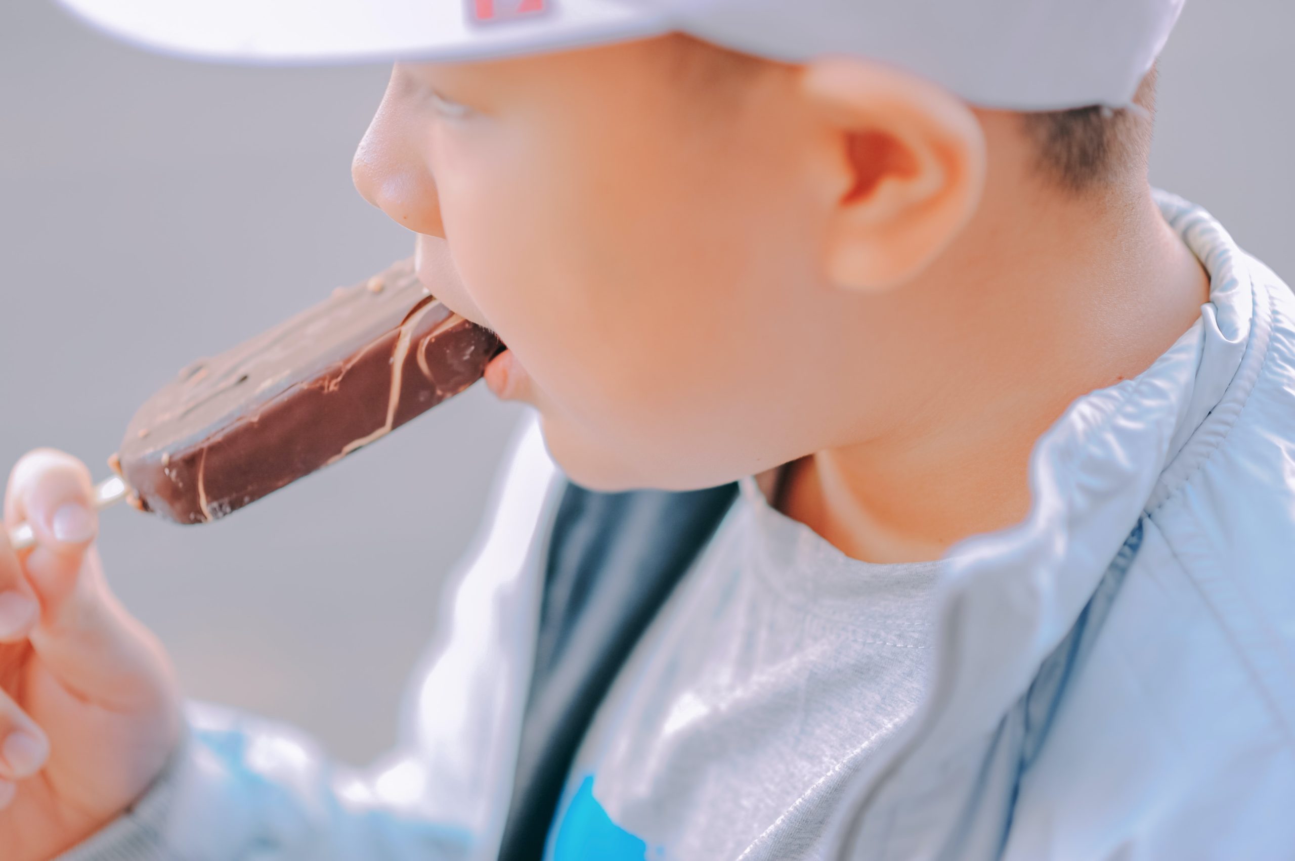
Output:
<path fill-rule="evenodd" d="M 399 71 L 382 96 L 368 131 L 351 161 L 351 179 L 360 196 L 414 233 L 444 238 L 436 181 L 417 141 L 418 115 L 401 101 Z"/>

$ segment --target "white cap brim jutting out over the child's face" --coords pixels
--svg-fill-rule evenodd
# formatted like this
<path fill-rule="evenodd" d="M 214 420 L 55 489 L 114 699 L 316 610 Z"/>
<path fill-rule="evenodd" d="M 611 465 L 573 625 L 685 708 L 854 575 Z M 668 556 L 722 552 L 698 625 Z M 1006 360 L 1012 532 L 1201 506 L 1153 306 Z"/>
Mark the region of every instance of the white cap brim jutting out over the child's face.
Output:
<path fill-rule="evenodd" d="M 619 0 L 548 0 L 543 12 L 486 21 L 475 0 L 58 1 L 149 50 L 253 65 L 496 60 L 671 30 L 662 14 Z"/>

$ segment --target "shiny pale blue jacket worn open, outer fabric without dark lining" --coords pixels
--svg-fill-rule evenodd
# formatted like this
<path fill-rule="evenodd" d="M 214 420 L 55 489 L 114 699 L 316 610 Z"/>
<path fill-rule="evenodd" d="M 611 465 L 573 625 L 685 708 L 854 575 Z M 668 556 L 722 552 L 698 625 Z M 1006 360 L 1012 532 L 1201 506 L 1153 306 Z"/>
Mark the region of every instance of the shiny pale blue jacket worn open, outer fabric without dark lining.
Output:
<path fill-rule="evenodd" d="M 1295 296 L 1159 202 L 1211 300 L 1039 439 L 1022 523 L 951 552 L 930 694 L 846 794 L 835 858 L 1295 858 Z M 559 478 L 530 422 L 372 769 L 192 704 L 163 779 L 65 857 L 493 857 Z"/>

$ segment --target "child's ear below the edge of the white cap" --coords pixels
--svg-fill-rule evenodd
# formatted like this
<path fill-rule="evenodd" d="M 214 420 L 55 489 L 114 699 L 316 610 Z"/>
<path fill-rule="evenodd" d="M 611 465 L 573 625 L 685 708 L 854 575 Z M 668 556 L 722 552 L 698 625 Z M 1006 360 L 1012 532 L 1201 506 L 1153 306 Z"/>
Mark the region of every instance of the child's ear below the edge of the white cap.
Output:
<path fill-rule="evenodd" d="M 957 96 L 879 62 L 813 61 L 800 84 L 825 132 L 828 277 L 855 290 L 913 278 L 980 202 L 979 120 Z"/>

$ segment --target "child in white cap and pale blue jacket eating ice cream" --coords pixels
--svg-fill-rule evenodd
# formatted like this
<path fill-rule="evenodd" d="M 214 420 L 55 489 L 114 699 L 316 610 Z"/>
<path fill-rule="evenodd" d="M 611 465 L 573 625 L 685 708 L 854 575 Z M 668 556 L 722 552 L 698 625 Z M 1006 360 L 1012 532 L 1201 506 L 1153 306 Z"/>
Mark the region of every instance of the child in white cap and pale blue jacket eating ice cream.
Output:
<path fill-rule="evenodd" d="M 1295 299 L 1147 186 L 1178 0 L 73 5 L 398 58 L 356 185 L 537 421 L 364 773 L 181 719 L 23 458 L 6 860 L 1291 852 Z"/>

